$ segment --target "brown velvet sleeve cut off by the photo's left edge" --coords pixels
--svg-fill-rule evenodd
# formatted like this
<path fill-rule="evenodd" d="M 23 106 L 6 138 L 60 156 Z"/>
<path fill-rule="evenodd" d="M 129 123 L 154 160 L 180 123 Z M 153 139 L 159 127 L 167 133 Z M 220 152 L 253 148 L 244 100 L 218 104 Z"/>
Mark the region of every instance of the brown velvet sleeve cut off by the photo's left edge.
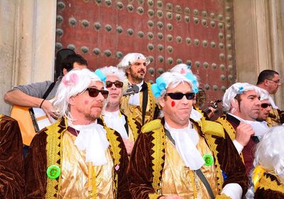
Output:
<path fill-rule="evenodd" d="M 0 115 L 0 198 L 24 198 L 23 141 L 18 122 Z"/>

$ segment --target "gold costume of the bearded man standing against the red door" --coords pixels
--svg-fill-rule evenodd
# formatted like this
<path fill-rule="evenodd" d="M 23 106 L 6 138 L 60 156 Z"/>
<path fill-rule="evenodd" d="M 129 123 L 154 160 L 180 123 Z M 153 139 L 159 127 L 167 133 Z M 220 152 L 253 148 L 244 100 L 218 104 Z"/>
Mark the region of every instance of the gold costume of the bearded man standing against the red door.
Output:
<path fill-rule="evenodd" d="M 153 120 L 155 112 L 155 98 L 151 91 L 151 84 L 147 83 L 148 86 L 148 103 L 146 107 L 145 114 L 145 124 Z M 127 117 L 131 117 L 137 120 L 142 124 L 142 101 L 143 101 L 143 92 L 139 93 L 140 95 L 140 106 L 133 106 L 129 104 L 129 96 L 122 96 L 120 101 L 121 112 L 124 113 Z"/>

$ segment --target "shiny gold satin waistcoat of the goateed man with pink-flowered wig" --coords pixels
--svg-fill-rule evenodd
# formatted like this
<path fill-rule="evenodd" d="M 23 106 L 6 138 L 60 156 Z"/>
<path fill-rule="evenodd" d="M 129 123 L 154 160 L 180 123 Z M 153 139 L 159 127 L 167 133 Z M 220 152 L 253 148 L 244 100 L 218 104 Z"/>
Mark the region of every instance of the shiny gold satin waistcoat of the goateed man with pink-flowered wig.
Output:
<path fill-rule="evenodd" d="M 62 137 L 62 183 L 60 198 L 114 198 L 113 168 L 114 163 L 109 149 L 107 164 L 92 166 L 92 182 L 96 191 L 88 191 L 88 164 L 85 162 L 85 152 L 75 146 L 76 137 L 65 132 Z M 94 185 L 92 186 L 94 189 Z M 92 194 L 93 193 L 93 194 Z"/>

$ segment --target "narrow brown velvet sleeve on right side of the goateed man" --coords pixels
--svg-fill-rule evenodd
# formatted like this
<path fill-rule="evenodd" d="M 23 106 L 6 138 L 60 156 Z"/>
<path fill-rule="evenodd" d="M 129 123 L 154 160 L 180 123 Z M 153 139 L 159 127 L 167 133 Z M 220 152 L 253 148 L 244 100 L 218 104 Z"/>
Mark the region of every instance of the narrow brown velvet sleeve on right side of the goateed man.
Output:
<path fill-rule="evenodd" d="M 118 132 L 116 132 L 119 135 Z M 129 181 L 127 178 L 127 169 L 129 166 L 129 157 L 127 155 L 126 147 L 124 146 L 124 141 L 119 136 L 119 147 L 121 147 L 121 159 L 119 165 L 119 181 L 117 187 L 117 198 L 118 199 L 131 199 L 131 193 L 129 192 Z"/>

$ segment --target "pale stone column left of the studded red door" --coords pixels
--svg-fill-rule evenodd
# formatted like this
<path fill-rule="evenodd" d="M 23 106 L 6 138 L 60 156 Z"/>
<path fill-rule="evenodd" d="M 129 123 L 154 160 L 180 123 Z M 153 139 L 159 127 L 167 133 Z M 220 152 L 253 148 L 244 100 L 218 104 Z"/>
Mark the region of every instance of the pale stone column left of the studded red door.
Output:
<path fill-rule="evenodd" d="M 53 79 L 55 25 L 56 0 L 0 1 L 0 113 L 10 113 L 3 96 L 13 86 Z"/>

